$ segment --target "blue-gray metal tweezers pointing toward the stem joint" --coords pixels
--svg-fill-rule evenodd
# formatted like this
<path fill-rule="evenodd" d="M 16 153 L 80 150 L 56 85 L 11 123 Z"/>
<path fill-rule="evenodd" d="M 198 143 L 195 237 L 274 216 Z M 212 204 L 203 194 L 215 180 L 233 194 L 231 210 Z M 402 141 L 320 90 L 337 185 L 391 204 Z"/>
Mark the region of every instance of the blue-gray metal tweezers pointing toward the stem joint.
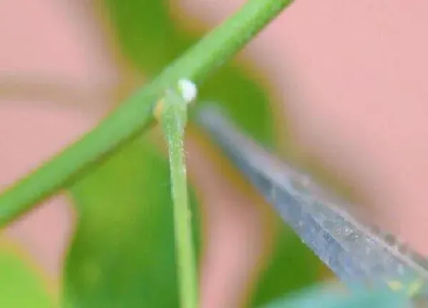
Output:
<path fill-rule="evenodd" d="M 196 122 L 343 282 L 387 285 L 415 299 L 428 298 L 424 257 L 358 221 L 349 204 L 240 133 L 218 108 L 200 108 Z"/>

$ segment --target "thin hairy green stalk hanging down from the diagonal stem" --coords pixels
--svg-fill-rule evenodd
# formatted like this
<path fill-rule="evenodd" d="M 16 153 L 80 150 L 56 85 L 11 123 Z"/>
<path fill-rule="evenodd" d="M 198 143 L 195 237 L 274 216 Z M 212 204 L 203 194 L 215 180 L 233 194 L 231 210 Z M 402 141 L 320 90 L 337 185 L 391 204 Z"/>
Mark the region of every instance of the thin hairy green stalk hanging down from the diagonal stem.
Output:
<path fill-rule="evenodd" d="M 197 308 L 198 287 L 195 255 L 188 206 L 188 188 L 183 147 L 187 122 L 187 102 L 178 91 L 169 90 L 163 98 L 161 124 L 168 143 L 174 207 L 175 251 L 178 265 L 180 307 Z"/>

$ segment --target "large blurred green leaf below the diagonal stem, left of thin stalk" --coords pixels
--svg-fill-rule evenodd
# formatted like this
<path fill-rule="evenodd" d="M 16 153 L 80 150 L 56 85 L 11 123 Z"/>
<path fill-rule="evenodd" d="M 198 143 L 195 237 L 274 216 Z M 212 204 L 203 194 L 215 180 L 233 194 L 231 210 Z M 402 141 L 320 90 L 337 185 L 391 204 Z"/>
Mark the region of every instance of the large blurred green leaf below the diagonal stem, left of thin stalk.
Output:
<path fill-rule="evenodd" d="M 71 307 L 178 307 L 168 177 L 167 160 L 138 142 L 72 188 L 80 219 L 65 267 Z"/>

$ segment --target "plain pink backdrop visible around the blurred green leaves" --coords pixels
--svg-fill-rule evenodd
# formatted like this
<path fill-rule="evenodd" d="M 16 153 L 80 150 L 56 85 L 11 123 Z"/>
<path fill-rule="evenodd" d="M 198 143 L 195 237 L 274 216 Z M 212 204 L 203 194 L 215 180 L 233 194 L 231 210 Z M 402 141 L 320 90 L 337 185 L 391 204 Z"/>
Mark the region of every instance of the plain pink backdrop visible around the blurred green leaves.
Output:
<path fill-rule="evenodd" d="M 173 7 L 185 11 L 187 20 L 213 26 L 243 2 L 181 0 Z M 130 76 L 85 3 L 0 1 L 2 187 L 95 125 L 113 103 L 106 89 Z M 428 255 L 427 13 L 423 0 L 297 0 L 244 54 L 269 76 L 272 96 L 281 98 L 279 107 L 303 150 L 359 190 L 379 224 Z M 51 99 L 51 91 L 19 93 L 12 100 L 7 94 L 12 73 L 29 84 L 59 83 L 84 95 L 62 104 Z M 203 273 L 212 279 L 203 279 L 203 307 L 234 306 L 243 289 L 231 286 L 248 277 L 263 246 L 260 236 L 248 232 L 262 232 L 265 222 L 256 207 L 243 215 L 243 205 L 252 201 L 222 187 L 221 175 L 208 183 L 206 175 L 212 177 L 215 168 L 195 138 L 188 147 L 190 177 L 200 182 L 210 225 L 218 226 L 208 232 Z M 234 210 L 227 215 L 230 202 Z M 58 197 L 6 236 L 57 277 L 71 221 L 65 198 Z M 240 252 L 230 250 L 237 244 Z M 222 245 L 229 247 L 227 256 Z M 253 257 L 238 262 L 243 250 Z M 224 302 L 213 302 L 219 298 Z"/>

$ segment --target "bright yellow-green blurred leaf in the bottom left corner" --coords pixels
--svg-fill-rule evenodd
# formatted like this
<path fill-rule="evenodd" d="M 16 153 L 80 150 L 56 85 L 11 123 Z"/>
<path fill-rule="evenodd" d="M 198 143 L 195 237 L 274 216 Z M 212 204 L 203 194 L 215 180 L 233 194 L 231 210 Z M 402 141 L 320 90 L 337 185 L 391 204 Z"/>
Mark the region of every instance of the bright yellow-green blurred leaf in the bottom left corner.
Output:
<path fill-rule="evenodd" d="M 0 307 L 55 307 L 43 277 L 17 253 L 3 247 L 0 249 Z"/>

